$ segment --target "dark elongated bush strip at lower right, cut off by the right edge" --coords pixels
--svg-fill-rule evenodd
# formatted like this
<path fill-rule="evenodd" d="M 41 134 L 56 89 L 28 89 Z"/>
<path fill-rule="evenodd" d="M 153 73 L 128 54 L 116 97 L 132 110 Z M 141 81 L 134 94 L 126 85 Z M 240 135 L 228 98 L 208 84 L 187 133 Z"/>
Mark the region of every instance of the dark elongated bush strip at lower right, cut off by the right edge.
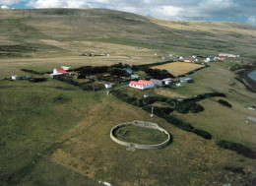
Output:
<path fill-rule="evenodd" d="M 217 142 L 216 144 L 221 148 L 234 151 L 239 155 L 244 155 L 244 156 L 250 157 L 250 158 L 256 158 L 255 152 L 253 152 L 252 150 L 250 150 L 249 148 L 247 148 L 241 144 L 228 142 L 228 141 L 224 141 L 224 140 Z"/>

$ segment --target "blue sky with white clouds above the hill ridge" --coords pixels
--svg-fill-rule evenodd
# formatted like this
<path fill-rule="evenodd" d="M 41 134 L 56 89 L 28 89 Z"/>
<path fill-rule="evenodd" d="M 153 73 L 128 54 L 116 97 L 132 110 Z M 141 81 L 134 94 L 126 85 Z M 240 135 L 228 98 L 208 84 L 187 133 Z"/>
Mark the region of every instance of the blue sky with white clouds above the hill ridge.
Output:
<path fill-rule="evenodd" d="M 256 0 L 0 0 L 0 7 L 106 8 L 167 20 L 240 22 L 256 26 Z"/>

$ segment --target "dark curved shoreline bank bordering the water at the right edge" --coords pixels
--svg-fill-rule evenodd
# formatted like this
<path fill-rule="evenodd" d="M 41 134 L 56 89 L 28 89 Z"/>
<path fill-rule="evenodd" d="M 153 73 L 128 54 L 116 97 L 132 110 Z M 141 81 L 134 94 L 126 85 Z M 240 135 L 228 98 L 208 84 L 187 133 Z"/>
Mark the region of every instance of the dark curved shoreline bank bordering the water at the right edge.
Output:
<path fill-rule="evenodd" d="M 248 91 L 256 93 L 256 81 L 248 77 L 248 74 L 256 70 L 256 61 L 242 67 L 242 71 L 237 72 L 237 80 L 240 81 Z"/>

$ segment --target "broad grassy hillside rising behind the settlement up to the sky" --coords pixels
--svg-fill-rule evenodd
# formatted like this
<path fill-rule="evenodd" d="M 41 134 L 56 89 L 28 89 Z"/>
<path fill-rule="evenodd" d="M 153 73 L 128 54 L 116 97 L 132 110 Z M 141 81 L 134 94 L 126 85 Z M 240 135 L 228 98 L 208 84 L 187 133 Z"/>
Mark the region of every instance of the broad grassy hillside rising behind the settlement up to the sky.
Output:
<path fill-rule="evenodd" d="M 1 10 L 0 20 L 5 26 L 0 29 L 1 45 L 26 43 L 27 50 L 45 46 L 77 52 L 83 46 L 69 41 L 96 40 L 180 54 L 224 51 L 251 56 L 256 51 L 256 28 L 237 23 L 166 21 L 104 9 Z"/>

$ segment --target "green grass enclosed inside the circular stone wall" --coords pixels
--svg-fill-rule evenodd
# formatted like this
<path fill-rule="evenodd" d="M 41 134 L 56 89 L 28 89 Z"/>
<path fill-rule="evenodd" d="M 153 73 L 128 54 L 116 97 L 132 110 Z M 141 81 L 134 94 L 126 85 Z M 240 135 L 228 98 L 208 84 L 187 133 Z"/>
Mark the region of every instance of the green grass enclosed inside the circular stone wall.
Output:
<path fill-rule="evenodd" d="M 155 145 L 167 140 L 167 136 L 159 130 L 133 125 L 118 128 L 114 136 L 124 142 L 142 145 Z"/>

